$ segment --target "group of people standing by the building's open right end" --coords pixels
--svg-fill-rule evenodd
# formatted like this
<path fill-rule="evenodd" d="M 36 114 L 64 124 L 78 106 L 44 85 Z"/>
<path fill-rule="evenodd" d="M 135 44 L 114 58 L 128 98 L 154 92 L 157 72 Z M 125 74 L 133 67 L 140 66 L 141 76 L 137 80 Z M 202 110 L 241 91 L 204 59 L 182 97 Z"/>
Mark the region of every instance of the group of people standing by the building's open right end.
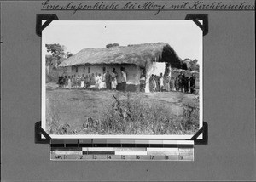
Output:
<path fill-rule="evenodd" d="M 175 78 L 169 75 L 164 77 L 162 73 L 160 76 L 151 75 L 149 90 L 150 92 L 180 91 L 195 94 L 195 74 L 192 74 L 191 77 L 185 77 L 185 74 L 180 72 Z"/>

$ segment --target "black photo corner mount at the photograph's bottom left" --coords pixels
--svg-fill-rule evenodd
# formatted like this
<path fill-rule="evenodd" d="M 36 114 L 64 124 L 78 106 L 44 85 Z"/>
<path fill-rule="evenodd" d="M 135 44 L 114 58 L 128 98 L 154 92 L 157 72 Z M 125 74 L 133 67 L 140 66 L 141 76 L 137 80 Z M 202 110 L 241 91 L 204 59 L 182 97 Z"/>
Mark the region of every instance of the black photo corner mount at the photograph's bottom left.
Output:
<path fill-rule="evenodd" d="M 41 121 L 35 123 L 35 143 L 36 144 L 49 144 L 50 136 L 47 134 L 44 129 L 41 127 Z M 44 139 L 42 138 L 44 135 Z"/>

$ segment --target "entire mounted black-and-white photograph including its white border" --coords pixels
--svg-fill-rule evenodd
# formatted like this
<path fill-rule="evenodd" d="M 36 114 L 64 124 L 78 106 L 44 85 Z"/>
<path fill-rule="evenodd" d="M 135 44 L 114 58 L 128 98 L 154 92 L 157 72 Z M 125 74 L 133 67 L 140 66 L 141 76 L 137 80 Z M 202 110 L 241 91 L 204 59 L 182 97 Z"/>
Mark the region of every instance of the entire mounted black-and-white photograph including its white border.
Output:
<path fill-rule="evenodd" d="M 190 139 L 202 66 L 193 20 L 54 20 L 42 31 L 42 128 L 53 139 Z"/>

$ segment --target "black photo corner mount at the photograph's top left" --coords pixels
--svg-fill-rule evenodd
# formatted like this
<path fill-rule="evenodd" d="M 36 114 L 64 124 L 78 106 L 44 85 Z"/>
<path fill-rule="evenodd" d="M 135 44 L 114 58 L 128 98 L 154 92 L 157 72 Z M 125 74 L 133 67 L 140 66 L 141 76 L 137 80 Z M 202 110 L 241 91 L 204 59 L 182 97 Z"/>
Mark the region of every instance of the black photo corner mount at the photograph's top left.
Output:
<path fill-rule="evenodd" d="M 46 20 L 43 25 L 42 20 Z M 46 26 L 49 26 L 53 20 L 59 20 L 56 14 L 37 14 L 36 33 L 39 37 L 42 37 L 42 31 Z"/>

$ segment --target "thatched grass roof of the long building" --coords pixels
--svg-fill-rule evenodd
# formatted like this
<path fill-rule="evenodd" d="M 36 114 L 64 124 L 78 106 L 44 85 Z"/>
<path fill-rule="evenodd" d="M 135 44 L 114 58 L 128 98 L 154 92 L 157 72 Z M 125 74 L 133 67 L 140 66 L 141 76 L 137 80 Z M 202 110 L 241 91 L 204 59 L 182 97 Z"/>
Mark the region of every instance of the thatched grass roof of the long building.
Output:
<path fill-rule="evenodd" d="M 144 67 L 148 61 L 169 62 L 177 68 L 181 66 L 181 59 L 168 43 L 84 48 L 59 66 L 132 64 Z"/>

